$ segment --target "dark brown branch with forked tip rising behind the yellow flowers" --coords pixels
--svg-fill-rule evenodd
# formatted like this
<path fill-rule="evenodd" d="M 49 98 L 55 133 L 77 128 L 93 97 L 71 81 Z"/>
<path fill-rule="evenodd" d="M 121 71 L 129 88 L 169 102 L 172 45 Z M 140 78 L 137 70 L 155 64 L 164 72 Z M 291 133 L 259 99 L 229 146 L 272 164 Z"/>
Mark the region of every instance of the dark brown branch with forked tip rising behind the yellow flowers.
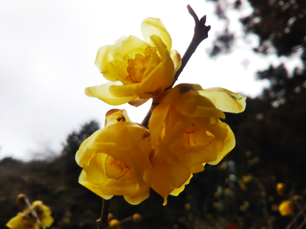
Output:
<path fill-rule="evenodd" d="M 199 20 L 198 16 L 196 15 L 196 13 L 194 12 L 194 10 L 191 8 L 190 5 L 187 5 L 187 9 L 188 9 L 188 12 L 191 14 L 191 16 L 193 17 L 193 19 L 195 21 L 193 38 L 192 38 L 186 52 L 184 53 L 184 56 L 182 57 L 182 65 L 181 65 L 180 69 L 174 75 L 174 81 L 172 82 L 172 84 L 169 87 L 167 87 L 165 89 L 165 91 L 173 87 L 174 83 L 177 81 L 177 78 L 179 77 L 179 75 L 183 71 L 184 67 L 186 66 L 188 60 L 190 59 L 192 54 L 196 51 L 196 48 L 200 45 L 200 43 L 208 37 L 208 31 L 211 29 L 210 25 L 209 26 L 205 25 L 206 15 L 204 15 Z M 151 113 L 152 112 L 151 112 L 151 109 L 150 109 L 148 111 L 147 115 L 144 117 L 144 120 L 141 122 L 141 124 L 144 125 L 145 127 L 148 126 L 149 119 L 151 117 Z"/>

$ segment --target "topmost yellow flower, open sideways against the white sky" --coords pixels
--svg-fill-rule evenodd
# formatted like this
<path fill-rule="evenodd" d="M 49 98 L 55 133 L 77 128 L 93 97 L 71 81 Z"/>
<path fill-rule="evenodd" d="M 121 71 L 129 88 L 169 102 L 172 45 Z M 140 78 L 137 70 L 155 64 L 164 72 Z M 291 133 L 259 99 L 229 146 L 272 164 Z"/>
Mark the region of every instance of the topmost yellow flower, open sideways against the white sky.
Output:
<path fill-rule="evenodd" d="M 88 87 L 85 94 L 111 105 L 129 102 L 139 106 L 159 96 L 181 67 L 180 54 L 171 49 L 172 40 L 162 21 L 147 17 L 141 23 L 144 40 L 121 37 L 114 45 L 98 50 L 95 65 L 110 82 Z"/>

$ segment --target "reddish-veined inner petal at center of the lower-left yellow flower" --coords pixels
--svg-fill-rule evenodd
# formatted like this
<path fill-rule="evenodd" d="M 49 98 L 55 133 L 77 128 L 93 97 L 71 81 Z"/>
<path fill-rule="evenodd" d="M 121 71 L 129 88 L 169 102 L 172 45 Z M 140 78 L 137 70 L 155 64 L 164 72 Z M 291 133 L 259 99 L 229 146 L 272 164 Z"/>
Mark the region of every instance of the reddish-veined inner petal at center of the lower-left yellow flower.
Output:
<path fill-rule="evenodd" d="M 105 171 L 108 178 L 119 180 L 120 177 L 124 176 L 129 172 L 130 167 L 125 165 L 123 162 L 116 160 L 110 155 L 107 155 L 105 159 Z"/>

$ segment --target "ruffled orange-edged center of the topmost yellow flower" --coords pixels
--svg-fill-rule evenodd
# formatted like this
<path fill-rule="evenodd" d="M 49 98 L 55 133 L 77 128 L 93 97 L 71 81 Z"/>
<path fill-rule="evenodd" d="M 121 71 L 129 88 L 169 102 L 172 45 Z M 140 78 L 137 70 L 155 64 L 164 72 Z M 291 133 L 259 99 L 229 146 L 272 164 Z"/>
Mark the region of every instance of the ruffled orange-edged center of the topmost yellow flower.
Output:
<path fill-rule="evenodd" d="M 127 80 L 131 80 L 134 83 L 139 83 L 145 78 L 146 70 L 152 70 L 162 61 L 162 59 L 157 55 L 156 48 L 147 47 L 144 50 L 144 56 L 136 54 L 135 59 L 128 60 L 129 67 L 127 68 L 128 76 Z M 150 72 L 150 71 L 147 71 Z"/>

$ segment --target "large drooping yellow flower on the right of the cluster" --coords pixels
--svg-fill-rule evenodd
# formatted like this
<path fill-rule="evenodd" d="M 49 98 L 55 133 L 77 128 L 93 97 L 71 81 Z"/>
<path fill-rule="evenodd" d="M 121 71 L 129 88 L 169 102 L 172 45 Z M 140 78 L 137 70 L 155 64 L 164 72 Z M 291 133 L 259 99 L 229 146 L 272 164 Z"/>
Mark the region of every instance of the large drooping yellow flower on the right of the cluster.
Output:
<path fill-rule="evenodd" d="M 223 88 L 202 89 L 197 84 L 179 84 L 155 98 L 149 122 L 155 148 L 151 187 L 167 198 L 182 191 L 205 163 L 220 162 L 235 146 L 235 137 L 219 118 L 225 118 L 223 111 L 244 111 L 245 99 Z"/>

